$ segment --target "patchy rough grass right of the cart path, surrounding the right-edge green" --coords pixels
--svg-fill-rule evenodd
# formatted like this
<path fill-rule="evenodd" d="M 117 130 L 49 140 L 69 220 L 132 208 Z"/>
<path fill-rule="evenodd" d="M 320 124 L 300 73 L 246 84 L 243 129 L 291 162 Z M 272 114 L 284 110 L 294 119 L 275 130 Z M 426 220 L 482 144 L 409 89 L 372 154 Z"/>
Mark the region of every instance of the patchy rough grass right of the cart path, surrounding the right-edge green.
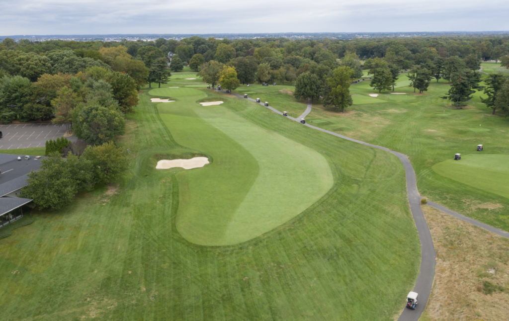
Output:
<path fill-rule="evenodd" d="M 400 81 L 406 78 L 402 75 Z M 509 207 L 508 198 L 440 176 L 432 170 L 433 165 L 452 159 L 455 153 L 462 156 L 478 153 L 479 143 L 484 144 L 483 155 L 509 154 L 506 144 L 509 119 L 491 115 L 491 109 L 480 103 L 479 94 L 469 101 L 467 109 L 453 108 L 439 98 L 448 89 L 445 81 L 433 81 L 425 95 L 414 95 L 412 88 L 403 86 L 397 91 L 408 93 L 408 97 L 382 93 L 378 99 L 388 103 L 357 105 L 344 114 L 324 110 L 317 104 L 307 120 L 313 124 L 318 120 L 317 126 L 405 153 L 414 166 L 422 195 L 509 230 L 509 215 L 504 210 Z M 351 92 L 366 96 L 374 90 L 364 81 L 352 85 Z M 488 210 L 472 208 L 470 203 L 499 203 L 502 207 Z"/>

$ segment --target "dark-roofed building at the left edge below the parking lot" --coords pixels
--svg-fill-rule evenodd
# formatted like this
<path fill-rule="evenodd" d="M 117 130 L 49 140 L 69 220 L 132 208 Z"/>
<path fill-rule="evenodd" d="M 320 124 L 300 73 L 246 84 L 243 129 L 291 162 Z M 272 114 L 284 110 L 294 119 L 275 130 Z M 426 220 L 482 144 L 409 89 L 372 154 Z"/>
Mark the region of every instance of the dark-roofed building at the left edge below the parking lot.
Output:
<path fill-rule="evenodd" d="M 32 199 L 18 195 L 28 185 L 26 174 L 38 170 L 40 165 L 34 156 L 0 154 L 0 227 L 22 217 L 22 213 L 13 216 L 13 211 Z"/>

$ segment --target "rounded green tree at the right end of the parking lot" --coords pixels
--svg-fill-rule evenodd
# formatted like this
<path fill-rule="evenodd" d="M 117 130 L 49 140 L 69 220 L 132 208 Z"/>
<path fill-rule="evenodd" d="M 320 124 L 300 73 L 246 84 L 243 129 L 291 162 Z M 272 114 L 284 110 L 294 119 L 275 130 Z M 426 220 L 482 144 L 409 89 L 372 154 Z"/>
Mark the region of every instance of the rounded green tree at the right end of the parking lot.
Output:
<path fill-rule="evenodd" d="M 78 105 L 73 112 L 74 134 L 92 144 L 102 144 L 125 132 L 122 112 L 114 106 L 104 107 L 97 101 Z"/>

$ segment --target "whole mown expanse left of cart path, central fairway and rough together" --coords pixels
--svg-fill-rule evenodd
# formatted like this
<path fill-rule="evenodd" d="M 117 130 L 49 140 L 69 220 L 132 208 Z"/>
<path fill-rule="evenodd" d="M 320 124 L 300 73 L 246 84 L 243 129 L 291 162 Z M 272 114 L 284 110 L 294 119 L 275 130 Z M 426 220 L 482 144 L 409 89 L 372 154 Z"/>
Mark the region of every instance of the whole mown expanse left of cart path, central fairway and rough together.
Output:
<path fill-rule="evenodd" d="M 34 223 L 0 240 L 2 320 L 392 320 L 420 258 L 401 162 L 248 100 L 207 89 L 165 90 L 154 92 L 178 101 L 151 103 L 142 91 L 136 113 L 127 115 L 118 143 L 130 150 L 131 167 L 120 186 L 80 193 L 59 211 L 33 211 Z M 224 104 L 196 103 L 206 97 Z M 155 169 L 160 158 L 192 154 L 211 163 Z M 330 179 L 320 177 L 329 171 L 330 188 Z M 310 189 L 302 193 L 281 178 L 301 187 L 307 180 Z M 296 205 L 286 199 L 278 205 L 265 188 L 301 199 L 285 194 Z M 196 196 L 206 200 L 186 203 Z M 192 212 L 184 215 L 206 201 L 202 220 L 209 226 Z M 223 239 L 265 232 L 228 246 L 187 241 L 201 237 L 193 228 L 220 229 L 225 220 L 208 215 L 216 205 L 227 209 L 225 202 L 238 204 L 239 220 Z M 263 216 L 267 203 L 301 212 Z M 270 222 L 246 228 L 241 219 L 251 224 L 249 215 Z M 286 221 L 273 222 L 277 217 Z"/>

